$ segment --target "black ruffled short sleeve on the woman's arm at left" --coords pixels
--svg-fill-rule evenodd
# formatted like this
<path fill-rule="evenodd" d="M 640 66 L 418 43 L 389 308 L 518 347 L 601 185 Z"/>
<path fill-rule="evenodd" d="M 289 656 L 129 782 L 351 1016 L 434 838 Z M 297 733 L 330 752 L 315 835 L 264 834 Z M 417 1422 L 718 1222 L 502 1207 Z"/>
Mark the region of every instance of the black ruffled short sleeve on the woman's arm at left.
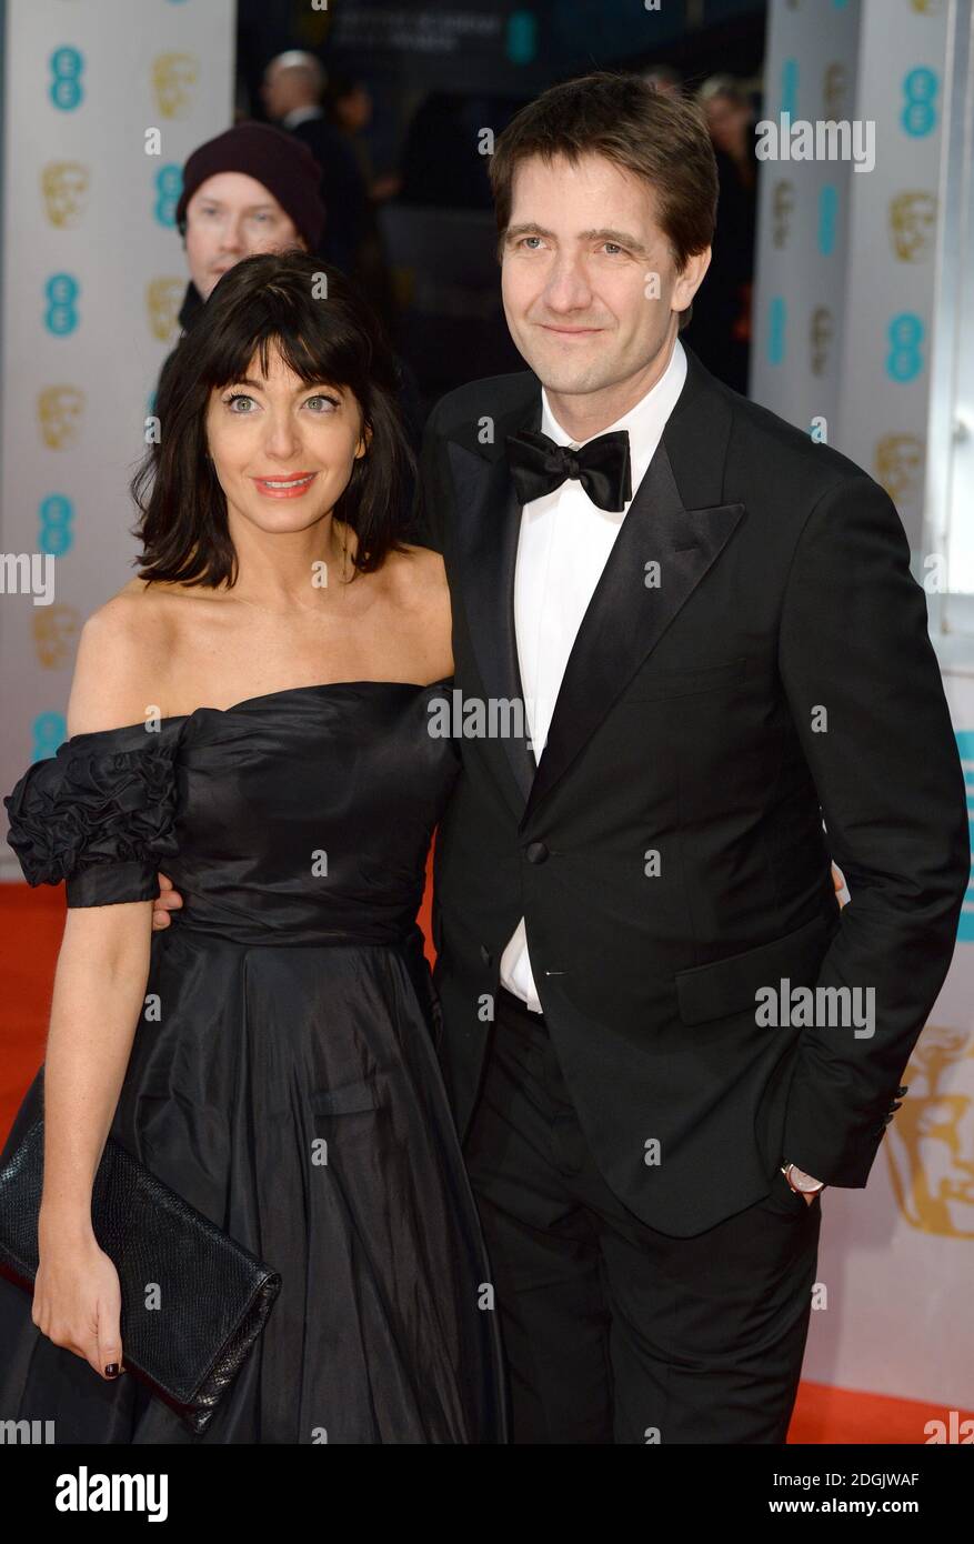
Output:
<path fill-rule="evenodd" d="M 68 906 L 153 900 L 178 854 L 171 721 L 74 735 L 3 800 L 28 885 L 66 880 Z"/>

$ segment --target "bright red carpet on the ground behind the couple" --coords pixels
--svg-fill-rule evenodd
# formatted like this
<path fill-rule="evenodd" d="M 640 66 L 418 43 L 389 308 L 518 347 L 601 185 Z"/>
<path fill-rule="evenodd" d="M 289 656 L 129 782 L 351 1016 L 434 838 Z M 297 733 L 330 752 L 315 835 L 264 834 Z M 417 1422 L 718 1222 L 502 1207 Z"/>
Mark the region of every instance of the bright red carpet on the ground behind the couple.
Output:
<path fill-rule="evenodd" d="M 0 1141 L 14 1119 L 25 1089 L 43 1059 L 54 962 L 65 914 L 63 886 L 0 883 Z M 429 939 L 429 889 L 420 923 Z M 432 951 L 428 945 L 429 957 Z M 789 1442 L 880 1442 L 915 1445 L 928 1419 L 943 1419 L 942 1407 L 909 1399 L 861 1394 L 823 1383 L 803 1383 Z M 974 1411 L 962 1413 L 974 1419 Z"/>

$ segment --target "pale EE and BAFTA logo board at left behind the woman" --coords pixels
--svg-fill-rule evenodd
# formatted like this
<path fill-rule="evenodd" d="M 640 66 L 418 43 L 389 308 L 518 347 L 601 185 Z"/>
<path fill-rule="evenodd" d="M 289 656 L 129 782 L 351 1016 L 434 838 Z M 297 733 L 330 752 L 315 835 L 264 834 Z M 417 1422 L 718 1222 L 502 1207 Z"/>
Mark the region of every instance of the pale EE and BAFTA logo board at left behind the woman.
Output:
<path fill-rule="evenodd" d="M 235 26 L 235 0 L 6 3 L 3 792 L 65 738 L 80 627 L 134 573 L 127 485 L 188 283 L 182 165 L 233 122 Z"/>

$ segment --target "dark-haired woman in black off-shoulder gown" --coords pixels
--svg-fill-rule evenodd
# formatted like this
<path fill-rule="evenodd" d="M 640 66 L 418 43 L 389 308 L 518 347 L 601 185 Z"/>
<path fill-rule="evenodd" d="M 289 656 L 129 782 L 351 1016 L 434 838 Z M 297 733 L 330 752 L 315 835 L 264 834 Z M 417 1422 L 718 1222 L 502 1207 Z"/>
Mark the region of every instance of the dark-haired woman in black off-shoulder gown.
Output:
<path fill-rule="evenodd" d="M 321 273 L 245 259 L 181 344 L 151 494 L 136 482 L 140 577 L 85 630 L 69 738 L 5 801 L 28 880 L 65 879 L 69 908 L 3 1153 L 43 1107 L 40 1272 L 34 1300 L 0 1280 L 0 1420 L 56 1442 L 506 1441 L 415 925 L 458 770 L 428 732 L 446 587 L 395 542 L 384 344 Z M 161 866 L 185 909 L 151 934 Z M 123 1368 L 90 1227 L 108 1133 L 282 1275 L 202 1436 L 103 1373 Z"/>

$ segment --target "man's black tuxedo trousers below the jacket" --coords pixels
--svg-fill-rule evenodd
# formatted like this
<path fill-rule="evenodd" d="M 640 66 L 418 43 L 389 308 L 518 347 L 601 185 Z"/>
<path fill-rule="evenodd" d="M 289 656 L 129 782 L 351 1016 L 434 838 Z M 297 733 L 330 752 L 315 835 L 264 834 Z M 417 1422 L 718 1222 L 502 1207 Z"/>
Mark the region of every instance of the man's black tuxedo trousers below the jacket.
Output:
<path fill-rule="evenodd" d="M 542 1014 L 503 988 L 465 1156 L 512 1442 L 786 1441 L 818 1200 L 776 1172 L 763 1201 L 695 1238 L 648 1227 L 599 1173 Z"/>

